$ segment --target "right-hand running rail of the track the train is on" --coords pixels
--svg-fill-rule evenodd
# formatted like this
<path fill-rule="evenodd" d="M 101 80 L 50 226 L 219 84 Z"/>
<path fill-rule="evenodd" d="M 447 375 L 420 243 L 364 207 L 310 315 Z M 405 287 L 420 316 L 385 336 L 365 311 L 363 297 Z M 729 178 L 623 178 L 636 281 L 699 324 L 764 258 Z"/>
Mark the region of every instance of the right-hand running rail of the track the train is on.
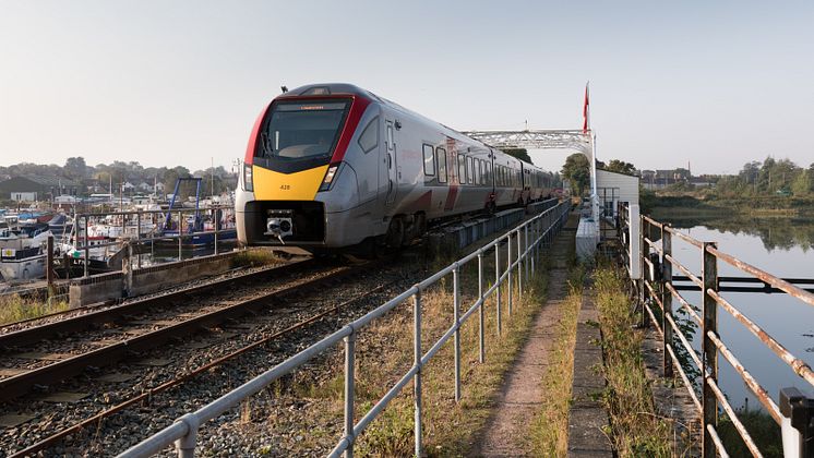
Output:
<path fill-rule="evenodd" d="M 279 300 L 302 289 L 318 288 L 326 282 L 355 275 L 368 265 L 338 270 L 333 274 L 275 290 L 260 298 L 253 298 L 216 311 L 193 316 L 175 325 L 169 325 L 127 340 L 88 351 L 72 358 L 34 369 L 0 381 L 0 400 L 14 399 L 31 391 L 35 385 L 52 385 L 56 382 L 82 374 L 88 366 L 101 367 L 127 358 L 132 352 L 152 350 L 181 335 L 194 334 L 203 328 L 218 325 L 235 316 L 256 312 L 270 301 Z"/>

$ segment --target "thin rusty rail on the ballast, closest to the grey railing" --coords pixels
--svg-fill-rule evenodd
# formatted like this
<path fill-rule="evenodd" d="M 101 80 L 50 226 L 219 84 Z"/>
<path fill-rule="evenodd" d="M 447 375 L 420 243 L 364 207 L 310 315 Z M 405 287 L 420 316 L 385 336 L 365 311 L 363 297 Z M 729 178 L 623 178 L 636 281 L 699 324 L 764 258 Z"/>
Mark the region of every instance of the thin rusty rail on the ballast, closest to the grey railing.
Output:
<path fill-rule="evenodd" d="M 14 453 L 9 458 L 22 458 L 22 457 L 32 456 L 34 454 L 37 454 L 38 451 L 45 450 L 49 446 L 51 446 L 51 445 L 56 444 L 57 442 L 63 439 L 65 436 L 68 436 L 70 434 L 79 433 L 80 431 L 86 430 L 86 429 L 93 426 L 94 423 L 97 423 L 98 421 L 100 421 L 100 420 L 103 420 L 105 418 L 108 418 L 108 417 L 110 417 L 110 415 L 112 415 L 115 413 L 118 413 L 119 411 L 124 410 L 125 408 L 128 408 L 128 407 L 130 407 L 130 406 L 132 406 L 132 405 L 134 405 L 136 402 L 141 402 L 143 400 L 152 399 L 155 395 L 157 395 L 159 393 L 164 393 L 164 391 L 166 391 L 169 388 L 178 386 L 178 385 L 180 385 L 180 384 L 189 381 L 190 378 L 194 378 L 195 376 L 197 376 L 197 375 L 200 375 L 200 374 L 202 374 L 204 372 L 207 372 L 207 371 L 210 371 L 213 367 L 217 367 L 217 366 L 219 366 L 219 365 L 222 365 L 222 364 L 224 364 L 226 362 L 229 362 L 229 361 L 234 360 L 235 358 L 237 358 L 237 357 L 239 357 L 239 355 L 241 355 L 241 354 L 243 354 L 243 353 L 246 353 L 248 351 L 254 350 L 258 347 L 262 347 L 262 346 L 268 343 L 272 340 L 276 340 L 276 339 L 278 339 L 278 338 L 280 338 L 280 337 L 283 337 L 283 336 L 285 336 L 287 334 L 290 334 L 290 333 L 292 333 L 295 330 L 301 329 L 301 328 L 303 328 L 303 327 L 306 327 L 306 326 L 308 326 L 308 325 L 310 325 L 310 324 L 312 324 L 312 323 L 314 323 L 316 321 L 320 321 L 320 320 L 324 318 L 327 315 L 331 315 L 333 313 L 338 312 L 339 310 L 346 308 L 347 305 L 349 305 L 349 304 L 351 304 L 354 302 L 357 302 L 357 301 L 359 301 L 361 299 L 367 298 L 368 296 L 371 296 L 371 294 L 373 294 L 375 292 L 379 292 L 382 289 L 384 289 L 384 288 L 386 288 L 386 287 L 388 287 L 388 286 L 391 286 L 393 284 L 395 284 L 395 281 L 391 281 L 390 284 L 382 285 L 382 286 L 379 286 L 376 288 L 373 288 L 372 290 L 366 291 L 364 293 L 362 293 L 360 296 L 357 296 L 354 299 L 349 299 L 349 300 L 347 300 L 347 301 L 345 301 L 345 302 L 343 302 L 343 303 L 340 303 L 340 304 L 338 304 L 338 305 L 336 305 L 336 306 L 334 306 L 334 308 L 332 308 L 332 309 L 330 309 L 327 311 L 321 312 L 321 313 L 319 313 L 316 315 L 313 315 L 313 316 L 309 317 L 308 320 L 303 320 L 303 321 L 301 321 L 301 322 L 299 322 L 297 324 L 294 324 L 294 325 L 291 325 L 291 326 L 289 326 L 289 327 L 287 327 L 287 328 L 285 328 L 283 330 L 278 330 L 278 332 L 273 333 L 273 334 L 271 334 L 271 335 L 268 335 L 266 337 L 261 338 L 260 340 L 253 341 L 253 342 L 249 343 L 246 347 L 242 347 L 242 348 L 240 348 L 238 350 L 235 350 L 235 351 L 232 351 L 232 352 L 230 352 L 228 354 L 225 354 L 225 355 L 223 355 L 220 358 L 217 358 L 217 359 L 215 359 L 215 360 L 213 360 L 213 361 L 211 361 L 211 362 L 208 362 L 208 363 L 206 363 L 204 365 L 201 365 L 201 366 L 199 366 L 199 367 L 196 367 L 196 369 L 194 369 L 194 370 L 192 370 L 190 372 L 187 372 L 187 373 L 182 374 L 179 377 L 176 377 L 176 378 L 173 378 L 171 381 L 167 381 L 167 382 L 165 382 L 165 383 L 156 386 L 155 388 L 151 388 L 147 391 L 144 391 L 144 393 L 142 393 L 142 394 L 135 396 L 135 397 L 132 397 L 132 398 L 130 398 L 130 399 L 128 399 L 128 400 L 125 400 L 123 402 L 120 402 L 120 403 L 118 403 L 118 405 L 116 405 L 116 406 L 113 406 L 113 407 L 111 407 L 111 408 L 109 408 L 107 410 L 104 410 L 104 411 L 101 411 L 99 413 L 96 413 L 95 415 L 91 417 L 89 419 L 83 420 L 83 421 L 81 421 L 81 422 L 79 422 L 79 423 L 76 423 L 76 424 L 74 424 L 72 426 L 69 426 L 69 427 L 67 427 L 67 429 L 64 429 L 62 431 L 59 431 L 59 432 L 57 432 L 55 434 L 51 434 L 50 436 L 48 436 L 48 437 L 39 441 L 38 443 L 35 443 L 35 444 L 28 446 L 27 448 L 25 448 L 23 450 Z"/>

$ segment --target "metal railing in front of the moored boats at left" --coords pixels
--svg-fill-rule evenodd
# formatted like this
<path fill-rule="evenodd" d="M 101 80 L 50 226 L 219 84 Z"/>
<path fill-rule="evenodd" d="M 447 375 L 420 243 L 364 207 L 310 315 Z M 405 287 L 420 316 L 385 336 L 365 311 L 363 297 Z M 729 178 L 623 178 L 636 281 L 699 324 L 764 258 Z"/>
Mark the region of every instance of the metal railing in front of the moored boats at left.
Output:
<path fill-rule="evenodd" d="M 130 244 L 149 244 L 151 248 L 153 248 L 154 243 L 156 241 L 178 241 L 178 261 L 181 261 L 183 258 L 183 241 L 190 240 L 196 236 L 204 236 L 204 234 L 213 234 L 214 237 L 214 250 L 215 254 L 218 254 L 218 243 L 224 242 L 223 239 L 218 240 L 220 234 L 224 232 L 231 232 L 235 231 L 235 228 L 222 228 L 219 218 L 215 217 L 215 226 L 213 230 L 206 230 L 206 231 L 190 231 L 185 230 L 185 219 L 184 215 L 190 214 L 206 214 L 206 213 L 213 213 L 214 215 L 217 215 L 218 212 L 231 212 L 234 214 L 235 208 L 231 206 L 212 206 L 206 208 L 177 208 L 177 209 L 167 209 L 167 210 L 131 210 L 131 212 L 104 212 L 104 213 L 91 213 L 91 214 L 77 214 L 74 217 L 74 236 L 76 237 L 75 243 L 75 250 L 77 252 L 82 253 L 82 262 L 84 265 L 84 272 L 83 276 L 87 277 L 89 275 L 89 262 L 91 260 L 91 250 L 94 249 L 103 249 L 103 248 L 109 248 L 109 246 L 124 246 L 125 243 Z M 177 218 L 175 220 L 175 224 L 178 228 L 178 233 L 164 233 L 165 228 L 163 227 L 165 224 L 166 218 L 169 215 L 175 216 Z M 89 242 L 89 231 L 88 228 L 94 222 L 99 222 L 104 218 L 111 217 L 115 225 L 109 225 L 112 228 L 116 228 L 117 230 L 120 230 L 119 236 L 117 237 L 117 240 L 111 240 L 103 243 L 94 243 L 91 244 Z M 143 231 L 142 229 L 145 227 L 143 224 L 151 225 L 149 230 Z M 142 266 L 142 258 L 141 253 L 136 253 L 136 262 L 137 267 L 141 268 Z"/>

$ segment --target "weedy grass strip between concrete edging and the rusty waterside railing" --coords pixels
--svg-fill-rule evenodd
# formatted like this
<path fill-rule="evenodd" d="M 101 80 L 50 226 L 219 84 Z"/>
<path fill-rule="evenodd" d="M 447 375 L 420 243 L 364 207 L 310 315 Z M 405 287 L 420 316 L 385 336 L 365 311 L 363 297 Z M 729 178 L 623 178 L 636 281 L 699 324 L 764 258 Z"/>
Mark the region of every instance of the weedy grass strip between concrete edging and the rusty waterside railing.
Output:
<path fill-rule="evenodd" d="M 623 281 L 620 273 L 609 266 L 599 266 L 594 273 L 610 437 L 619 456 L 669 457 L 673 455 L 672 427 L 669 419 L 656 413 L 642 359 L 644 334 L 634 329 L 638 318 L 632 312 Z"/>

